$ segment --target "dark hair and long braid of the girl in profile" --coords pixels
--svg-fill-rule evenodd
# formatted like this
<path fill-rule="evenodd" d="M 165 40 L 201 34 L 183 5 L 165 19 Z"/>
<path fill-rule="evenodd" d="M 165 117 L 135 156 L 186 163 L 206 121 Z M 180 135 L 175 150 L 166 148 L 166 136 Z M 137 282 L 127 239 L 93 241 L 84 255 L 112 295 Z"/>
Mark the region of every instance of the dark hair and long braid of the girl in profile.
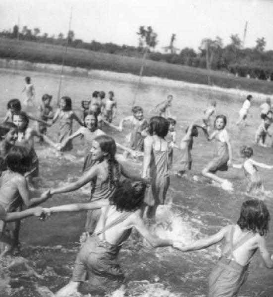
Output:
<path fill-rule="evenodd" d="M 94 141 L 98 142 L 103 152 L 108 153 L 106 156 L 108 162 L 108 183 L 111 189 L 118 185 L 120 172 L 118 162 L 115 159 L 116 145 L 112 137 L 108 135 L 100 135 L 94 138 Z"/>

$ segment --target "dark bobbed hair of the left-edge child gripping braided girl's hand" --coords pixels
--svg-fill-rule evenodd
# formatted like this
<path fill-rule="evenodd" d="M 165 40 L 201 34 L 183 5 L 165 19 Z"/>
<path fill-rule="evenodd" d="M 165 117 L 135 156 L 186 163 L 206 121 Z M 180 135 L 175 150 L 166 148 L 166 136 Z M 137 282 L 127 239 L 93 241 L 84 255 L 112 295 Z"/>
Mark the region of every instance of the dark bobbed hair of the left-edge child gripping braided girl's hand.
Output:
<path fill-rule="evenodd" d="M 18 146 L 10 148 L 5 157 L 5 163 L 11 171 L 24 175 L 30 170 L 31 166 L 29 150 Z"/>

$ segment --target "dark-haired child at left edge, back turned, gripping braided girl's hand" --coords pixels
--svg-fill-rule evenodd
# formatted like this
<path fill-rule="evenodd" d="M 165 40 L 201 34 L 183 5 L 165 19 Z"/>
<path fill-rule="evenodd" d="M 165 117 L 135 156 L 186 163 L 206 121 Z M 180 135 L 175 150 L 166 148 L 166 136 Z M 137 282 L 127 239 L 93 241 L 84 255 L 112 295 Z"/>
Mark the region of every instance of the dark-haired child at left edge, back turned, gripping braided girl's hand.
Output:
<path fill-rule="evenodd" d="M 39 198 L 31 198 L 24 176 L 29 171 L 31 162 L 26 148 L 14 146 L 7 153 L 5 158 L 7 170 L 2 173 L 0 181 L 0 206 L 5 212 L 13 212 L 23 204 L 27 207 L 34 206 L 50 197 L 47 191 Z M 1 252 L 19 245 L 19 222 L 17 224 L 15 222 L 15 225 L 6 225 L 0 221 L 0 233 L 3 235 L 0 241 L 4 243 Z"/>

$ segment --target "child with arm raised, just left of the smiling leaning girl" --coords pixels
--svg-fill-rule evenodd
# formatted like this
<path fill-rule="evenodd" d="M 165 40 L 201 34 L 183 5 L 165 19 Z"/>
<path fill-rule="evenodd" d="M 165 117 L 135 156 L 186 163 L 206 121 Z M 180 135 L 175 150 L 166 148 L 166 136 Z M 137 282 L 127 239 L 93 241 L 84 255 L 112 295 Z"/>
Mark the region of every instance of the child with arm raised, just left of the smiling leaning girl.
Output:
<path fill-rule="evenodd" d="M 198 129 L 194 125 L 190 125 L 186 129 L 186 135 L 182 138 L 179 148 L 182 150 L 177 172 L 178 177 L 182 177 L 187 170 L 191 170 L 192 156 L 191 150 L 193 146 L 193 138 L 198 136 Z"/>

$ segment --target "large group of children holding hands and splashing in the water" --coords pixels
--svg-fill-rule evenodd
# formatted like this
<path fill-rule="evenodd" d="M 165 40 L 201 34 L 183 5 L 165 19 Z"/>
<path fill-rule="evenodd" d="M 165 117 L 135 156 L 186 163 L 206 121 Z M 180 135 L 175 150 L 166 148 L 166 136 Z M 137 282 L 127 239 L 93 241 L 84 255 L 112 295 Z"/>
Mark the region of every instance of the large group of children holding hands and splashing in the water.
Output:
<path fill-rule="evenodd" d="M 124 275 L 117 262 L 117 256 L 133 227 L 153 247 L 170 246 L 183 252 L 206 248 L 225 239 L 222 256 L 210 276 L 210 297 L 236 296 L 246 280 L 248 264 L 258 248 L 266 266 L 273 268 L 273 257 L 270 256 L 265 243 L 270 214 L 265 203 L 259 199 L 243 203 L 237 224 L 228 225 L 215 235 L 187 246 L 179 241 L 155 236 L 144 224 L 144 212 L 148 219 L 154 219 L 157 207 L 165 202 L 174 148 L 180 153 L 177 175 L 182 177 L 191 169 L 193 137 L 198 136 L 198 128 L 204 131 L 208 141 L 216 142 L 215 156 L 203 169 L 202 174 L 217 183 L 225 182 L 216 172 L 225 171 L 231 165 L 232 150 L 225 130 L 227 120 L 224 115 L 216 116 L 215 131 L 209 133 L 210 119 L 215 113 L 215 101 L 204 111 L 201 123 L 193 123 L 187 127 L 178 146 L 174 131 L 176 121 L 171 117 L 169 109 L 171 95 L 156 106 L 156 115 L 149 121 L 144 118 L 143 109 L 134 106 L 133 115 L 122 119 L 118 127 L 112 124 L 116 113 L 116 101 L 111 91 L 105 102 L 105 93 L 98 91 L 93 93 L 92 100 L 82 101 L 81 117 L 72 110 L 69 97 L 61 98 L 55 113 L 50 106 L 51 99 L 51 96 L 45 94 L 39 107 L 40 118 L 32 117 L 38 120 L 37 130 L 28 127 L 30 117 L 21 111 L 18 99 L 8 102 L 8 114 L 0 125 L 1 255 L 19 245 L 18 219 L 31 215 L 44 218 L 55 212 L 87 210 L 85 232 L 81 236 L 82 245 L 75 262 L 72 280 L 57 292 L 58 297 L 66 297 L 79 290 L 82 293 L 91 293 L 94 289 L 105 291 L 109 288 L 110 282 L 123 283 Z M 267 116 L 263 120 L 265 119 Z M 54 143 L 46 135 L 47 127 L 56 120 L 60 125 L 58 143 Z M 72 132 L 73 120 L 81 125 L 75 133 Z M 122 131 L 124 122 L 130 122 L 132 125 L 127 151 L 140 151 L 143 155 L 141 175 L 131 172 L 126 168 L 126 163 L 120 163 L 116 159 L 116 148 L 124 146 L 116 143 L 102 130 L 103 124 L 106 123 Z M 39 173 L 34 136 L 58 150 L 68 151 L 73 148 L 72 139 L 79 135 L 86 139 L 91 148 L 84 162 L 83 175 L 75 182 L 44 192 L 39 198 L 31 198 L 31 178 Z M 243 146 L 240 153 L 244 162 L 233 164 L 233 167 L 244 169 L 250 181 L 248 192 L 261 190 L 257 167 L 273 169 L 273 166 L 254 161 L 251 158 L 253 149 L 250 147 Z M 121 182 L 121 175 L 127 180 Z M 91 183 L 91 197 L 88 203 L 51 208 L 36 206 L 53 195 L 76 191 L 88 183 Z M 36 207 L 22 210 L 23 205 Z M 88 282 L 85 282 L 86 280 Z"/>

